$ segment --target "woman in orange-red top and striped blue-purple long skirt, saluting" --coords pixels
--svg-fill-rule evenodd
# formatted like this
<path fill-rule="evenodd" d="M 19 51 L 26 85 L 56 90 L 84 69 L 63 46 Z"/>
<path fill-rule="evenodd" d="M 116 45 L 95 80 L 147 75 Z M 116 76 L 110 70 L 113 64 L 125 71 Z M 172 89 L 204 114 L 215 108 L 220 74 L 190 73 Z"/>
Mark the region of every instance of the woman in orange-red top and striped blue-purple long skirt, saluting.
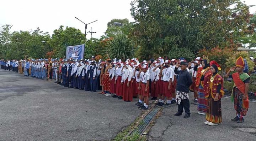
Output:
<path fill-rule="evenodd" d="M 196 65 L 194 67 L 194 71 L 197 71 L 197 77 L 196 77 L 196 87 L 198 88 L 198 105 L 197 110 L 199 111 L 198 114 L 206 115 L 207 112 L 207 98 L 204 97 L 204 87 L 203 87 L 203 81 L 201 81 L 201 77 L 204 72 L 206 72 L 206 75 L 209 75 L 210 71 L 208 71 L 209 64 L 207 63 L 207 59 L 203 59 L 201 61 L 201 66 L 198 67 Z"/>

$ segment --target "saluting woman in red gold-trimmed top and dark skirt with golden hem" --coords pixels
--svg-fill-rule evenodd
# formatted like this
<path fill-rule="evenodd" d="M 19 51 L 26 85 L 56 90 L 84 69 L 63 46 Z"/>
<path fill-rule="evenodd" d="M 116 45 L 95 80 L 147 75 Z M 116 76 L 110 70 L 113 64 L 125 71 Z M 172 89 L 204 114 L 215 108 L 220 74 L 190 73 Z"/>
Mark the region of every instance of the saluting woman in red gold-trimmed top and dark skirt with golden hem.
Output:
<path fill-rule="evenodd" d="M 211 74 L 205 76 L 206 71 L 201 77 L 204 81 L 204 95 L 207 98 L 207 113 L 206 122 L 210 126 L 222 123 L 222 106 L 221 98 L 224 95 L 223 91 L 223 78 L 218 74 L 220 65 L 216 61 L 210 62 Z"/>

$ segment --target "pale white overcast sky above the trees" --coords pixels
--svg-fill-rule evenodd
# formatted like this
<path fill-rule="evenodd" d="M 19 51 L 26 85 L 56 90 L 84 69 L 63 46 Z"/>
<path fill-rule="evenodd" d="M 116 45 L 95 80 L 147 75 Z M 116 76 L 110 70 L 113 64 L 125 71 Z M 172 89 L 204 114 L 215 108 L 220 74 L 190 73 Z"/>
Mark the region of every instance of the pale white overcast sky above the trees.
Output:
<path fill-rule="evenodd" d="M 130 15 L 130 2 L 132 0 L 1 0 L 0 26 L 11 24 L 11 31 L 35 30 L 53 34 L 54 29 L 60 25 L 74 27 L 85 33 L 84 23 L 97 22 L 87 25 L 87 31 L 92 28 L 92 37 L 100 38 L 107 29 L 111 19 L 127 18 L 133 22 Z M 256 0 L 242 0 L 247 5 L 256 5 Z M 250 8 L 251 13 L 256 12 L 256 6 Z M 86 32 L 87 32 L 86 31 Z M 86 38 L 91 37 L 90 33 Z"/>

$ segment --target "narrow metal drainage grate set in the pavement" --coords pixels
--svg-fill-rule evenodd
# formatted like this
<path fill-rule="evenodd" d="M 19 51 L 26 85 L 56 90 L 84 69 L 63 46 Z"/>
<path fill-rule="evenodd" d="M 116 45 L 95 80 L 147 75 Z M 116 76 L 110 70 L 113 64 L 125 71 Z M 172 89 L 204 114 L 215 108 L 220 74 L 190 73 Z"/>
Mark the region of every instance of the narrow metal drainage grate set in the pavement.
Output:
<path fill-rule="evenodd" d="M 140 123 L 138 125 L 138 127 L 131 133 L 132 134 L 139 134 L 142 135 L 144 133 L 144 131 L 146 130 L 146 128 L 148 127 L 150 121 L 155 117 L 156 113 L 158 113 L 158 111 L 160 110 L 160 108 L 153 108 L 153 110 L 151 110 L 142 120 L 142 123 Z"/>

